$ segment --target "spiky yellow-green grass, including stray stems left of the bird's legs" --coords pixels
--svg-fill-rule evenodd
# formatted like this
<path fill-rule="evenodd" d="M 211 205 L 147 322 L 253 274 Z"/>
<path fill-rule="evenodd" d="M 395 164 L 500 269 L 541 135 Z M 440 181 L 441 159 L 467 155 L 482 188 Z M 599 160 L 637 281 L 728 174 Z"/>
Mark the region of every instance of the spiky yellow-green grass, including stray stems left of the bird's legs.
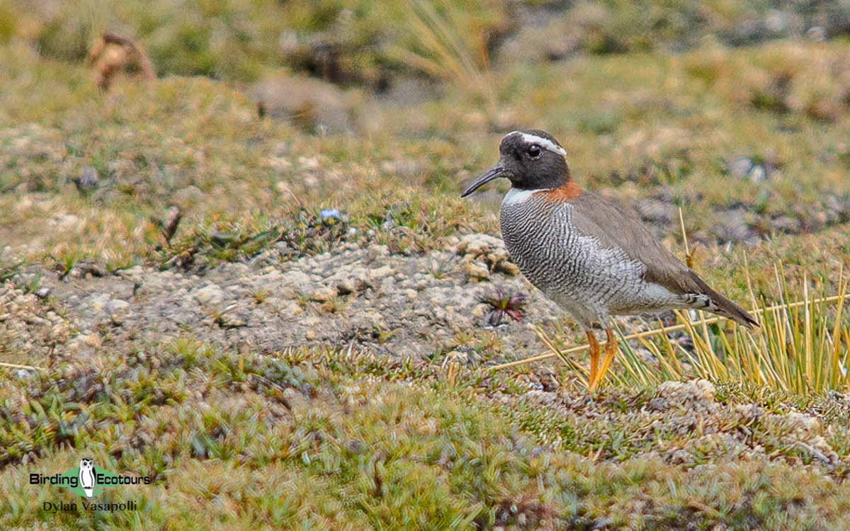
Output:
<path fill-rule="evenodd" d="M 745 260 L 746 264 L 746 260 Z M 751 302 L 759 327 L 748 330 L 702 311 L 677 311 L 678 325 L 626 335 L 620 339 L 620 368 L 609 375 L 617 385 L 655 387 L 663 381 L 706 378 L 776 391 L 812 394 L 850 389 L 850 325 L 845 313 L 847 280 L 839 273 L 836 295 L 814 294 L 803 279 L 802 296 L 791 293 L 781 264 L 775 266 L 779 304 L 759 306 L 747 271 Z M 698 319 L 694 319 L 697 317 Z M 557 356 L 587 384 L 587 370 L 570 357 L 587 346 L 564 349 L 537 326 L 536 335 L 550 350 L 528 359 L 499 364 L 504 369 Z M 632 346 L 637 340 L 642 347 Z"/>

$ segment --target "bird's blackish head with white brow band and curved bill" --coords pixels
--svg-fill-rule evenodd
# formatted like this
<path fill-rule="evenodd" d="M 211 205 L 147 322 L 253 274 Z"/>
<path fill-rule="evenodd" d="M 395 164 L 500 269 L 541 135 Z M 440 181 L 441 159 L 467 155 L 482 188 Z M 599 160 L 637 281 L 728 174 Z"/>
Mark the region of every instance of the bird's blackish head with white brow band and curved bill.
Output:
<path fill-rule="evenodd" d="M 495 178 L 508 178 L 518 189 L 552 189 L 570 180 L 564 148 L 545 131 L 515 131 L 501 139 L 499 162 L 467 188 L 472 194 Z"/>

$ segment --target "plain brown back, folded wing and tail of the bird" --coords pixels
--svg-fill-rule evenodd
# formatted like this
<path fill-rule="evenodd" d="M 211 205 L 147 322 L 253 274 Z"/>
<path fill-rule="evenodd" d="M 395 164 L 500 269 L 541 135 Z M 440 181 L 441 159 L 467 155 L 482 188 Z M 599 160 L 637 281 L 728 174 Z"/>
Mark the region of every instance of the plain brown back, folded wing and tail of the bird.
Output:
<path fill-rule="evenodd" d="M 663 285 L 678 295 L 707 295 L 723 310 L 718 313 L 748 327 L 757 324 L 737 304 L 712 290 L 691 268 L 667 251 L 643 223 L 619 206 L 587 191 L 582 191 L 570 203 L 574 206 L 573 224 L 576 229 L 597 238 L 603 247 L 622 249 L 632 260 L 643 263 L 646 266 L 643 278 L 647 282 Z"/>

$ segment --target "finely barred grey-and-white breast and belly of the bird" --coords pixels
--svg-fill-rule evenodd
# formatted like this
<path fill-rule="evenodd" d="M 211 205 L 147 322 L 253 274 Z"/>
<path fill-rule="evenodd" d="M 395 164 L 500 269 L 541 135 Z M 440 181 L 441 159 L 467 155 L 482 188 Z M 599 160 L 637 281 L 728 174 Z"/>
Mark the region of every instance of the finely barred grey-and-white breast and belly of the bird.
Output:
<path fill-rule="evenodd" d="M 535 190 L 511 189 L 502 201 L 502 238 L 533 285 L 584 325 L 609 314 L 684 307 L 681 297 L 644 282 L 643 263 L 581 234 L 571 221 L 573 208 Z"/>

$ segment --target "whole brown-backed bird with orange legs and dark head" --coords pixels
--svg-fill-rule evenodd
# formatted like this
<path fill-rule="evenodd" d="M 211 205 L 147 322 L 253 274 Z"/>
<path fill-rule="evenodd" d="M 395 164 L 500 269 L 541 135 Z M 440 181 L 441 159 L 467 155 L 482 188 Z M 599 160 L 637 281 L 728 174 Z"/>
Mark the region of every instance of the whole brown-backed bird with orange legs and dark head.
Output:
<path fill-rule="evenodd" d="M 581 189 L 566 155 L 545 131 L 507 133 L 499 144 L 496 166 L 461 197 L 496 178 L 511 182 L 499 212 L 502 239 L 525 278 L 585 332 L 591 393 L 604 380 L 617 352 L 612 316 L 695 308 L 747 328 L 758 325 L 680 262 L 637 219 Z M 599 329 L 607 340 L 601 362 L 594 333 Z"/>

